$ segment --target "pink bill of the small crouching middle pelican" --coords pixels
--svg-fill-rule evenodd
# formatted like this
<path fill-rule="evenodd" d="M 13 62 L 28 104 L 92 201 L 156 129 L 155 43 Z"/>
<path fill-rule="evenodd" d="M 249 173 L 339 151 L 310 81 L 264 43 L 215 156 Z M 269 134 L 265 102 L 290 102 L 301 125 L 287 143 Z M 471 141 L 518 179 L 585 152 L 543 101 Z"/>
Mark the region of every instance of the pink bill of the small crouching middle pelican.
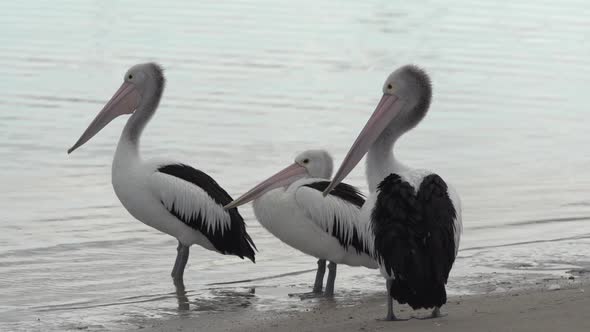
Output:
<path fill-rule="evenodd" d="M 256 187 L 248 190 L 247 193 L 240 196 L 240 198 L 234 200 L 233 202 L 224 206 L 224 209 L 231 209 L 238 207 L 240 205 L 244 205 L 250 201 L 255 200 L 256 198 L 264 195 L 264 193 L 276 189 L 279 187 L 287 186 L 298 179 L 304 177 L 307 173 L 305 167 L 299 165 L 298 163 L 293 163 L 292 165 L 286 167 L 282 171 L 278 172 L 277 174 L 269 177 L 268 179 L 262 181 Z"/>

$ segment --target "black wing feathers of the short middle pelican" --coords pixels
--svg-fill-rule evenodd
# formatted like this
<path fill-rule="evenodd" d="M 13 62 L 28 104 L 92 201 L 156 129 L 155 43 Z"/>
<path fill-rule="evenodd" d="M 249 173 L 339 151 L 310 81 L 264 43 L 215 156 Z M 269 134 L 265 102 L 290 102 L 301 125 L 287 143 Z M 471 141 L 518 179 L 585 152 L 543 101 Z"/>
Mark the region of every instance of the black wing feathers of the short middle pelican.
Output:
<path fill-rule="evenodd" d="M 304 187 L 309 187 L 319 192 L 324 192 L 328 185 L 330 185 L 330 181 L 317 181 L 306 184 Z M 346 183 L 338 184 L 329 195 L 352 203 L 359 209 L 363 206 L 363 204 L 365 204 L 365 196 L 360 192 L 360 190 Z M 361 241 L 359 231 L 356 228 L 352 229 L 352 236 L 350 240 L 347 236 L 342 236 L 345 235 L 346 232 L 341 232 L 341 228 L 342 223 L 340 220 L 334 220 L 334 227 L 332 227 L 331 235 L 335 237 L 345 249 L 348 249 L 349 246 L 352 246 L 356 250 L 357 254 L 366 253 L 369 256 L 373 256 L 372 253 L 369 252 L 369 249 L 363 244 L 363 241 Z"/>

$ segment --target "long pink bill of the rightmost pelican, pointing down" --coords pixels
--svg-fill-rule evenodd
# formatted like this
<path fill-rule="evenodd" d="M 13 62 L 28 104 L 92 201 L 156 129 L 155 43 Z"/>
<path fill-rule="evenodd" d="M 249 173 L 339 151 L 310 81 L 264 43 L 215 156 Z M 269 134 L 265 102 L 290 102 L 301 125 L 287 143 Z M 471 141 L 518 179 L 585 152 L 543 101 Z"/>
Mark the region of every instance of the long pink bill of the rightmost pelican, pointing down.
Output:
<path fill-rule="evenodd" d="M 369 121 L 367 121 L 365 127 L 350 147 L 350 150 L 348 150 L 340 168 L 334 175 L 334 178 L 332 178 L 332 182 L 324 190 L 324 196 L 327 196 L 356 167 L 369 151 L 371 145 L 375 143 L 390 122 L 399 114 L 402 107 L 403 102 L 395 95 L 384 94 L 381 97 L 373 115 L 371 115 Z"/>

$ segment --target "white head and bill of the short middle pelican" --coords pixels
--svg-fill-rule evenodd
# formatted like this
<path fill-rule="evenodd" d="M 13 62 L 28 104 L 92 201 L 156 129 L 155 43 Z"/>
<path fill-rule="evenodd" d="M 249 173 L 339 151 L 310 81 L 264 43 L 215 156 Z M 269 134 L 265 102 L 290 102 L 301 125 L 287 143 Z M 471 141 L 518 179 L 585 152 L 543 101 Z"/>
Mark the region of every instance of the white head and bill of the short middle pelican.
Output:
<path fill-rule="evenodd" d="M 270 190 L 289 186 L 291 183 L 302 178 L 329 179 L 332 176 L 332 169 L 332 156 L 328 152 L 324 150 L 307 150 L 297 155 L 293 164 L 262 181 L 238 199 L 227 204 L 224 208 L 231 209 L 244 205 Z"/>

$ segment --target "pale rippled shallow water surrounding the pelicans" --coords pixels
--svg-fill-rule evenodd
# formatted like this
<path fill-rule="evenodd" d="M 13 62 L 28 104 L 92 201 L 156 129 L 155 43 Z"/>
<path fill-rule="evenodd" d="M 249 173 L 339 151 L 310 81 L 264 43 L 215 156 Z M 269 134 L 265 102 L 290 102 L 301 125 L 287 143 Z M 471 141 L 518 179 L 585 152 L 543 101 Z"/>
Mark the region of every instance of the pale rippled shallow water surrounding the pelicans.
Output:
<path fill-rule="evenodd" d="M 387 74 L 420 64 L 433 108 L 397 153 L 462 196 L 450 291 L 590 265 L 589 15 L 582 0 L 3 1 L 0 330 L 305 308 L 287 294 L 306 291 L 313 273 L 278 275 L 314 259 L 270 236 L 249 206 L 256 265 L 194 247 L 177 296 L 174 239 L 133 220 L 110 184 L 123 119 L 66 155 L 125 70 L 151 60 L 168 84 L 144 155 L 190 163 L 233 195 L 308 148 L 340 162 Z M 363 167 L 347 181 L 365 189 Z M 382 283 L 340 267 L 339 301 Z"/>

